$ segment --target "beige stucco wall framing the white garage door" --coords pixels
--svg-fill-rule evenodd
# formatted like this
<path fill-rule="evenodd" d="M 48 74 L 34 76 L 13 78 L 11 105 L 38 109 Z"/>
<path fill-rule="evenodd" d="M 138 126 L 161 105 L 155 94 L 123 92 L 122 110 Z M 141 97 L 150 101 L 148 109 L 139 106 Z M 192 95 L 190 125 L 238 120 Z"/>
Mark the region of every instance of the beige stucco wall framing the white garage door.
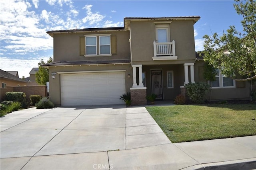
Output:
<path fill-rule="evenodd" d="M 103 70 L 126 70 L 125 71 L 125 84 L 126 92 L 130 92 L 132 87 L 132 66 L 131 64 L 110 64 L 110 65 L 86 65 L 86 66 L 57 66 L 49 67 L 49 86 L 50 86 L 50 100 L 54 102 L 55 106 L 61 106 L 61 95 L 60 95 L 60 74 L 57 72 L 72 72 L 72 71 L 98 71 Z M 55 78 L 52 78 L 51 73 L 56 72 Z M 130 74 L 130 78 L 128 78 Z"/>

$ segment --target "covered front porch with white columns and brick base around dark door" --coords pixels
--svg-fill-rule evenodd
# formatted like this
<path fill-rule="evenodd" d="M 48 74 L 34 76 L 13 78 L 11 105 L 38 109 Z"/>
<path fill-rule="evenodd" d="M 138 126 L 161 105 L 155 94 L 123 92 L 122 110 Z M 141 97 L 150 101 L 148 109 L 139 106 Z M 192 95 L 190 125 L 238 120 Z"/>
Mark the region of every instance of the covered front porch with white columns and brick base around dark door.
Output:
<path fill-rule="evenodd" d="M 174 100 L 184 90 L 184 84 L 195 82 L 194 63 L 133 65 L 132 91 L 139 92 L 140 100 L 156 94 L 157 100 Z M 136 97 L 137 98 L 137 97 Z M 133 99 L 132 99 L 133 100 Z M 134 103 L 134 105 L 140 105 Z"/>

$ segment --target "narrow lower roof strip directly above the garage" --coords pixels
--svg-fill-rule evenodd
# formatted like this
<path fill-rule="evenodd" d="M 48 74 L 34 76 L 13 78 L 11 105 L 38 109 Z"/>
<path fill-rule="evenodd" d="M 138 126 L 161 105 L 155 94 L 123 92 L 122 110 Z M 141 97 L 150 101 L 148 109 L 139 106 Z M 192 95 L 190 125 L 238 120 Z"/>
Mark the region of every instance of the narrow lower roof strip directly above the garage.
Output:
<path fill-rule="evenodd" d="M 49 64 L 43 64 L 42 66 L 64 66 L 64 65 L 93 65 L 93 64 L 129 64 L 130 60 L 95 60 L 95 61 L 61 61 Z"/>

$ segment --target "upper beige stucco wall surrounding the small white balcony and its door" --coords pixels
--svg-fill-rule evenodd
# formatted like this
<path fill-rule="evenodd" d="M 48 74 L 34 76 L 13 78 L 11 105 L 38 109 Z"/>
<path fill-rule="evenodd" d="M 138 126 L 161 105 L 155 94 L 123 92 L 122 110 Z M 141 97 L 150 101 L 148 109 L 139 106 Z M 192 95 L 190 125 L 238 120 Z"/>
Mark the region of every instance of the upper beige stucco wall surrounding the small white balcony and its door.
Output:
<path fill-rule="evenodd" d="M 194 63 L 194 24 L 192 20 L 173 20 L 170 25 L 170 41 L 175 41 L 177 60 L 153 61 L 153 41 L 156 40 L 156 24 L 153 21 L 131 21 L 131 48 L 133 64 Z M 190 61 L 188 61 L 190 60 Z"/>

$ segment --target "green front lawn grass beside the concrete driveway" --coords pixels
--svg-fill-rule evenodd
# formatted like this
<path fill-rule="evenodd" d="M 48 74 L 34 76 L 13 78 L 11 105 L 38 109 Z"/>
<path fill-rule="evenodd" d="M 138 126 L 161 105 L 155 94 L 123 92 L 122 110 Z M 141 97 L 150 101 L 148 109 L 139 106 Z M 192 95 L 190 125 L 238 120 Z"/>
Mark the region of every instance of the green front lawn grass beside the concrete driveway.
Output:
<path fill-rule="evenodd" d="M 146 107 L 172 143 L 256 135 L 256 104 Z"/>

